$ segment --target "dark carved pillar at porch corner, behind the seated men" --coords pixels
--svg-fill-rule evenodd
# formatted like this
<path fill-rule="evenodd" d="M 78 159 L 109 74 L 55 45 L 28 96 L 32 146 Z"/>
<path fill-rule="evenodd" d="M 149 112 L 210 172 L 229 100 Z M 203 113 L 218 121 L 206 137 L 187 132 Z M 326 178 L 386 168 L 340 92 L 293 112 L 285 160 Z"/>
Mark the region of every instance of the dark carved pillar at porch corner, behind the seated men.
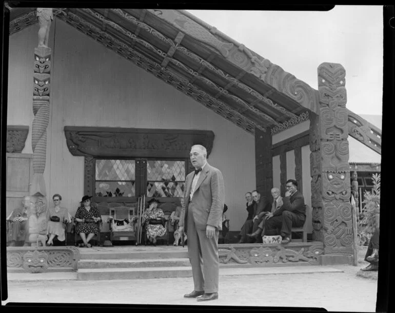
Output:
<path fill-rule="evenodd" d="M 256 190 L 261 197 L 269 199 L 273 187 L 273 165 L 271 155 L 271 133 L 255 128 L 255 175 Z"/>

